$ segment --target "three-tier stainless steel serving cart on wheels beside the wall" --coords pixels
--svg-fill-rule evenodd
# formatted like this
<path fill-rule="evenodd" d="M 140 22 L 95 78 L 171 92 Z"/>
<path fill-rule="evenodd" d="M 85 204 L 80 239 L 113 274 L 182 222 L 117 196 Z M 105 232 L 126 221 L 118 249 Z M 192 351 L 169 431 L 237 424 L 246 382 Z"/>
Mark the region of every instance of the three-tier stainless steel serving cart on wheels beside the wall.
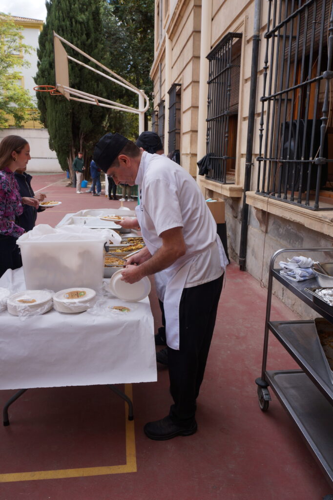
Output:
<path fill-rule="evenodd" d="M 305 289 L 318 286 L 315 278 L 290 281 L 280 275 L 280 269 L 274 269 L 275 259 L 281 253 L 299 255 L 309 251 L 333 253 L 331 247 L 284 248 L 277 250 L 270 259 L 262 369 L 261 377 L 257 378 L 255 383 L 260 409 L 262 411 L 268 409 L 269 386 L 297 425 L 308 448 L 333 487 L 333 379 L 327 360 L 324 359 L 315 322 L 270 320 L 272 284 L 273 279 L 276 279 L 333 324 L 333 306 L 327 305 L 322 308 L 317 301 L 313 302 L 312 294 Z M 301 369 L 266 370 L 269 332 L 277 338 Z M 326 495 L 324 500 L 333 500 L 333 495 Z"/>

